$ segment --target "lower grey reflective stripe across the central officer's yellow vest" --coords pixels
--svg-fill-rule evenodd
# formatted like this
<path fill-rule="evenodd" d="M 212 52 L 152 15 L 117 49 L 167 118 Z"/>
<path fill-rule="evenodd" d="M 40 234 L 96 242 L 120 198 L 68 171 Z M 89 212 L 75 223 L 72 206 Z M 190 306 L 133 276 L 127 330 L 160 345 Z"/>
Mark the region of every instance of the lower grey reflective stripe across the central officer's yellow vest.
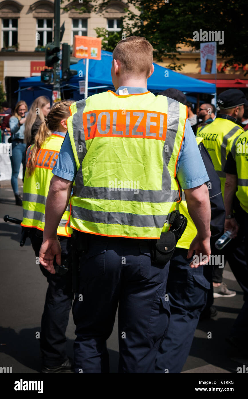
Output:
<path fill-rule="evenodd" d="M 72 217 L 92 223 L 139 227 L 163 227 L 168 220 L 168 215 L 135 215 L 134 213 L 91 211 L 74 205 L 72 205 Z"/>

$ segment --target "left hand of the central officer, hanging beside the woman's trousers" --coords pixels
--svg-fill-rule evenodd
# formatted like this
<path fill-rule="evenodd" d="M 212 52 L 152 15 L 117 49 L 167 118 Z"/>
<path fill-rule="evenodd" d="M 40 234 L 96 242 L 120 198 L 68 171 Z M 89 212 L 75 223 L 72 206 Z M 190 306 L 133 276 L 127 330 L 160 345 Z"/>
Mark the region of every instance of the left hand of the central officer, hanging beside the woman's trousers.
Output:
<path fill-rule="evenodd" d="M 43 243 L 41 245 L 39 253 L 40 263 L 51 274 L 56 273 L 53 267 L 53 260 L 55 256 L 57 264 L 61 265 L 61 246 L 58 238 L 43 239 Z"/>

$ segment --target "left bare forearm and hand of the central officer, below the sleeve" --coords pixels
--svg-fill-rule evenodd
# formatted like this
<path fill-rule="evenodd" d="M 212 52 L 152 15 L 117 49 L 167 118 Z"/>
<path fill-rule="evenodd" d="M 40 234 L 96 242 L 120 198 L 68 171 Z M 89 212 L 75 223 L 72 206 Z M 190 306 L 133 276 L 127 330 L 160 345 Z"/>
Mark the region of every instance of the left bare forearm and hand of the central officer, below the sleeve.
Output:
<path fill-rule="evenodd" d="M 45 209 L 45 228 L 43 231 L 43 243 L 39 258 L 40 263 L 50 273 L 55 274 L 53 259 L 61 265 L 61 247 L 57 237 L 57 228 L 62 215 L 66 210 L 72 190 L 72 182 L 53 176 L 50 182 L 49 193 Z"/>

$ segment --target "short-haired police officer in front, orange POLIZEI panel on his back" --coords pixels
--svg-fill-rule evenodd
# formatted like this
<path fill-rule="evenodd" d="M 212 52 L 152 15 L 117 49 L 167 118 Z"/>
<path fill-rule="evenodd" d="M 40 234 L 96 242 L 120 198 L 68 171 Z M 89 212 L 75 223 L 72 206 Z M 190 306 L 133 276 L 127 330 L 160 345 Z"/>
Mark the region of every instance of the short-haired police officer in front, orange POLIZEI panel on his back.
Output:
<path fill-rule="evenodd" d="M 106 340 L 118 305 L 119 372 L 154 372 L 170 312 L 169 262 L 152 263 L 151 249 L 169 229 L 179 184 L 198 230 L 189 256 L 194 250 L 210 256 L 207 172 L 186 107 L 146 89 L 153 71 L 145 38 L 119 41 L 111 67 L 116 92 L 70 107 L 68 135 L 53 168 L 41 263 L 54 273 L 54 256 L 60 261 L 56 229 L 72 187 L 70 225 L 87 242 L 73 304 L 76 373 L 109 372 Z"/>

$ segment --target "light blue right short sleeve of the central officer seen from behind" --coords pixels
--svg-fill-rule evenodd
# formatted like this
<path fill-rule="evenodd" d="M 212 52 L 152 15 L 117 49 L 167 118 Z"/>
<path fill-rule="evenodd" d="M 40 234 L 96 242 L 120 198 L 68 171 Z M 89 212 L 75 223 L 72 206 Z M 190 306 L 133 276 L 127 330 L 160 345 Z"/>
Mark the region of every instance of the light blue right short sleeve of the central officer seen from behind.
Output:
<path fill-rule="evenodd" d="M 195 140 L 195 135 L 186 121 L 182 150 L 178 157 L 176 178 L 183 190 L 201 186 L 209 181 L 206 168 Z"/>

